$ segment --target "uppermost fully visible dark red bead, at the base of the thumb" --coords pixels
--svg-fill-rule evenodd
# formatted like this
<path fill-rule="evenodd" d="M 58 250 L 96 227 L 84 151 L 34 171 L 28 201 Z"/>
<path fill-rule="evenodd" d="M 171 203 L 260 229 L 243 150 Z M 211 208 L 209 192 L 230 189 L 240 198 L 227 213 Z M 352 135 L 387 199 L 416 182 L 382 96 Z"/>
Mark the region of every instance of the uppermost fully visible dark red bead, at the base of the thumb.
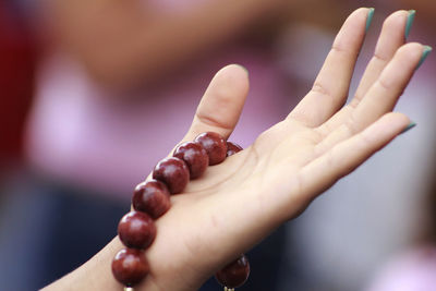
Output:
<path fill-rule="evenodd" d="M 195 142 L 202 144 L 209 156 L 209 165 L 220 163 L 226 159 L 227 143 L 221 135 L 215 132 L 205 132 L 195 137 Z"/>

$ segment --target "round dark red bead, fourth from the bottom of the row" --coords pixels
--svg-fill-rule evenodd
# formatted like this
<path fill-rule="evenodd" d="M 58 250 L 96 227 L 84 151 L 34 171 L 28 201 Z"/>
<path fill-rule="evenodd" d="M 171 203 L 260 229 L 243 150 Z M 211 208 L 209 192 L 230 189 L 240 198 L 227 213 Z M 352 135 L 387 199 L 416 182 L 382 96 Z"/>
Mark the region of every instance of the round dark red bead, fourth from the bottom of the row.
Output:
<path fill-rule="evenodd" d="M 165 158 L 156 165 L 153 178 L 164 182 L 171 194 L 178 194 L 190 181 L 190 170 L 186 163 L 179 158 Z"/>

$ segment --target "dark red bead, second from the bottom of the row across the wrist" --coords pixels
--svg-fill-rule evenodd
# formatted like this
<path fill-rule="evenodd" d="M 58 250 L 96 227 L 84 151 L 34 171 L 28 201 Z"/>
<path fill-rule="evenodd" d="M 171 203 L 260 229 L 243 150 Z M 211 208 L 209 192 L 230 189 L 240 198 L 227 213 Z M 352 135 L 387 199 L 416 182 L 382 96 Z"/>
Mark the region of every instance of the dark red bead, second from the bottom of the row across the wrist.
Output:
<path fill-rule="evenodd" d="M 155 222 L 147 214 L 130 211 L 121 218 L 118 234 L 128 247 L 147 248 L 156 237 Z"/>

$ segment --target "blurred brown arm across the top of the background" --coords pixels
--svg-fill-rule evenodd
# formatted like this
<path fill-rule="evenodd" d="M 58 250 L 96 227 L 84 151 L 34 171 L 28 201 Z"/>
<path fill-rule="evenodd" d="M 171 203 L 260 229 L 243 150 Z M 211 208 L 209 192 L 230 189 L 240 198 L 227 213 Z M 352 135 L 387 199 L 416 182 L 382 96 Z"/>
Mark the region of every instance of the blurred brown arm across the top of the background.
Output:
<path fill-rule="evenodd" d="M 116 87 L 154 81 L 274 10 L 264 0 L 213 1 L 179 14 L 156 13 L 140 1 L 53 1 L 58 43 Z"/>

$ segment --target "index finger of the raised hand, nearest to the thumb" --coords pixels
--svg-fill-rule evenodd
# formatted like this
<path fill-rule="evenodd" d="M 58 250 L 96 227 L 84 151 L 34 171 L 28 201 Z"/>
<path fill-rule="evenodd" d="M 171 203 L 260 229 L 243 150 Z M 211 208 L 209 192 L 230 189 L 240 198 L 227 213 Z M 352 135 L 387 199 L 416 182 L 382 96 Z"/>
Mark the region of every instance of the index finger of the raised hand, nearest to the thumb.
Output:
<path fill-rule="evenodd" d="M 317 126 L 347 100 L 354 64 L 365 36 L 370 9 L 354 11 L 338 33 L 313 88 L 288 118 Z"/>

